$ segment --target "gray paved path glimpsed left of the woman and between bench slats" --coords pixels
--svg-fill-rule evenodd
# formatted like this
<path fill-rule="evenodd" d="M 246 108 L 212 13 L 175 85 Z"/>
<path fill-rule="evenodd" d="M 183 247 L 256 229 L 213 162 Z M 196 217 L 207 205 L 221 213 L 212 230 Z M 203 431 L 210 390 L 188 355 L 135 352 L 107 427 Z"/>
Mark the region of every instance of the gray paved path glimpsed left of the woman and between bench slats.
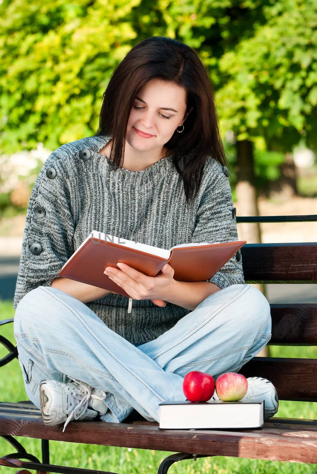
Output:
<path fill-rule="evenodd" d="M 17 256 L 0 257 L 0 299 L 13 299 L 19 261 Z M 271 304 L 317 303 L 317 284 L 267 284 L 266 291 Z"/>

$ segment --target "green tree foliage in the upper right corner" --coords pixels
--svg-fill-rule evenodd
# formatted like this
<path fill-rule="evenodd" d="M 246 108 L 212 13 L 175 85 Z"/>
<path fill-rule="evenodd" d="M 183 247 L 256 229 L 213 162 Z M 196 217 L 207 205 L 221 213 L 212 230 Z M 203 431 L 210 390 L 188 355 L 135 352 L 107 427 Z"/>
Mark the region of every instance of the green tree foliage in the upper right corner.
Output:
<path fill-rule="evenodd" d="M 265 24 L 219 60 L 222 127 L 238 140 L 264 137 L 278 151 L 302 136 L 317 149 L 317 3 L 280 0 L 263 13 Z"/>

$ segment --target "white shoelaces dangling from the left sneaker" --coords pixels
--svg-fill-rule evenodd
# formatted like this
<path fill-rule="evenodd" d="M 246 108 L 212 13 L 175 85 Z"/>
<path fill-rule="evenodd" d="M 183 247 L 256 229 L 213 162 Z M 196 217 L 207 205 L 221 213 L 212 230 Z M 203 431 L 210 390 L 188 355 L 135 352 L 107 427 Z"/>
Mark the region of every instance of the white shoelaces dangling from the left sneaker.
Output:
<path fill-rule="evenodd" d="M 93 395 L 92 394 L 93 387 L 91 385 L 88 385 L 88 384 L 86 385 L 82 383 L 80 380 L 74 379 L 73 377 L 69 377 L 69 378 L 74 380 L 75 383 L 78 383 L 78 389 L 75 389 L 75 388 L 70 389 L 70 393 L 67 394 L 66 409 L 68 411 L 71 407 L 73 407 L 73 410 L 69 413 L 65 421 L 63 433 L 65 431 L 66 426 L 71 421 L 72 416 L 74 416 L 74 419 L 79 419 L 84 414 L 85 410 L 88 407 L 88 401 L 91 398 L 95 398 L 98 400 L 104 400 L 106 398 L 106 393 L 103 390 L 102 390 L 103 395 L 101 397 L 99 397 L 98 395 Z M 84 406 L 84 410 L 78 415 L 77 414 L 78 410 L 80 410 L 82 406 Z"/>

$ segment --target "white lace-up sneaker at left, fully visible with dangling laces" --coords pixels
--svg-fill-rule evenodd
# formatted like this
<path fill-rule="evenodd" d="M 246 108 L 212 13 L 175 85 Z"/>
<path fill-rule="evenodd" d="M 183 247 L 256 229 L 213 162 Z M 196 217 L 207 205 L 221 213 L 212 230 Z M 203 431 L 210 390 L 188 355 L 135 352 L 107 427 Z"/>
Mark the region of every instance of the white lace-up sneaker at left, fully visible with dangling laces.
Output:
<path fill-rule="evenodd" d="M 52 426 L 65 421 L 63 433 L 70 421 L 93 419 L 98 414 L 105 414 L 108 410 L 102 401 L 106 398 L 105 392 L 102 391 L 103 395 L 98 396 L 98 392 L 88 383 L 80 382 L 73 377 L 69 378 L 75 383 L 42 380 L 39 386 L 44 423 Z"/>

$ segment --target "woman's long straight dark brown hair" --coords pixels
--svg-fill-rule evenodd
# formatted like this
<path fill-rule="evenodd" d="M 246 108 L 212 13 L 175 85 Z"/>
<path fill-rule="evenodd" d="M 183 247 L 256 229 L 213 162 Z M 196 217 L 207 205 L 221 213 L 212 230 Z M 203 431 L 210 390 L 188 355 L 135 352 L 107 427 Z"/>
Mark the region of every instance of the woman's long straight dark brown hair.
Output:
<path fill-rule="evenodd" d="M 175 130 L 164 144 L 166 155 L 172 155 L 183 179 L 188 206 L 190 199 L 196 197 L 208 155 L 229 168 L 219 133 L 213 85 L 194 49 L 169 36 L 152 36 L 134 46 L 113 71 L 103 93 L 96 136 L 112 136 L 109 159 L 113 169 L 122 167 L 135 97 L 152 79 L 185 88 L 186 113 L 193 107 L 184 122 L 184 131 L 180 134 Z"/>

